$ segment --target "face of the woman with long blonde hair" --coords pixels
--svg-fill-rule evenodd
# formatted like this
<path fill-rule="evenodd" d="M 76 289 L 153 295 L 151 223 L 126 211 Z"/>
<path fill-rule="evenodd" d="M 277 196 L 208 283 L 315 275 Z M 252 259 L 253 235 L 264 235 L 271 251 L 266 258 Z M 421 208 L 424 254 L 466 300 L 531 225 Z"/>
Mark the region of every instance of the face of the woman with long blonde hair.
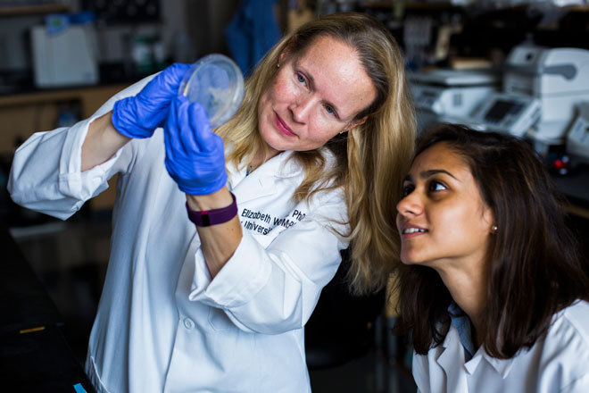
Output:
<path fill-rule="evenodd" d="M 354 117 L 377 93 L 353 48 L 318 38 L 302 57 L 282 57 L 258 105 L 261 137 L 274 154 L 318 148 L 365 120 Z"/>

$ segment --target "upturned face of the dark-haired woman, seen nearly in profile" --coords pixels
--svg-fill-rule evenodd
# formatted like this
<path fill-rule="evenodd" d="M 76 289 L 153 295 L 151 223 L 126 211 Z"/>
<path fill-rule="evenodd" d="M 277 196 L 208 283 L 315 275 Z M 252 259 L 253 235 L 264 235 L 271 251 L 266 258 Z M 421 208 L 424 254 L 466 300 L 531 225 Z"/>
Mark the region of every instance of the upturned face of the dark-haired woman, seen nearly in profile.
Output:
<path fill-rule="evenodd" d="M 401 260 L 434 268 L 482 265 L 494 218 L 464 159 L 444 142 L 419 154 L 397 205 Z"/>

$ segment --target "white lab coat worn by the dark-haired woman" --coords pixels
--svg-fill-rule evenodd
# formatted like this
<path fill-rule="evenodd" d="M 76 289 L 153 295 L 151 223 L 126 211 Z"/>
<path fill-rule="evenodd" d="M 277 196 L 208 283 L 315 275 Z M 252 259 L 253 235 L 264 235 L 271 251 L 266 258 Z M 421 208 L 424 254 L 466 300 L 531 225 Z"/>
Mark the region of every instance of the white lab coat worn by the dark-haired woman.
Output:
<path fill-rule="evenodd" d="M 577 301 L 555 315 L 544 339 L 511 359 L 479 347 L 464 363 L 458 330 L 427 355 L 413 354 L 413 378 L 422 393 L 589 392 L 589 304 Z"/>

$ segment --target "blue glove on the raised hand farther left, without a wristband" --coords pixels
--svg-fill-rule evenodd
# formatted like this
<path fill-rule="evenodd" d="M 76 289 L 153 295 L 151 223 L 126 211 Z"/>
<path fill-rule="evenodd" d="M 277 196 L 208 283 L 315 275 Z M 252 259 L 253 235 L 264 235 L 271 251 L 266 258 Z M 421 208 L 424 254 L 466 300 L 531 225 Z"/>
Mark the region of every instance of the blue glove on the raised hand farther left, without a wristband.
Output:
<path fill-rule="evenodd" d="M 137 96 L 129 96 L 114 103 L 112 125 L 129 138 L 150 138 L 162 127 L 168 116 L 170 100 L 178 96 L 178 88 L 189 64 L 170 65 L 145 85 Z"/>

